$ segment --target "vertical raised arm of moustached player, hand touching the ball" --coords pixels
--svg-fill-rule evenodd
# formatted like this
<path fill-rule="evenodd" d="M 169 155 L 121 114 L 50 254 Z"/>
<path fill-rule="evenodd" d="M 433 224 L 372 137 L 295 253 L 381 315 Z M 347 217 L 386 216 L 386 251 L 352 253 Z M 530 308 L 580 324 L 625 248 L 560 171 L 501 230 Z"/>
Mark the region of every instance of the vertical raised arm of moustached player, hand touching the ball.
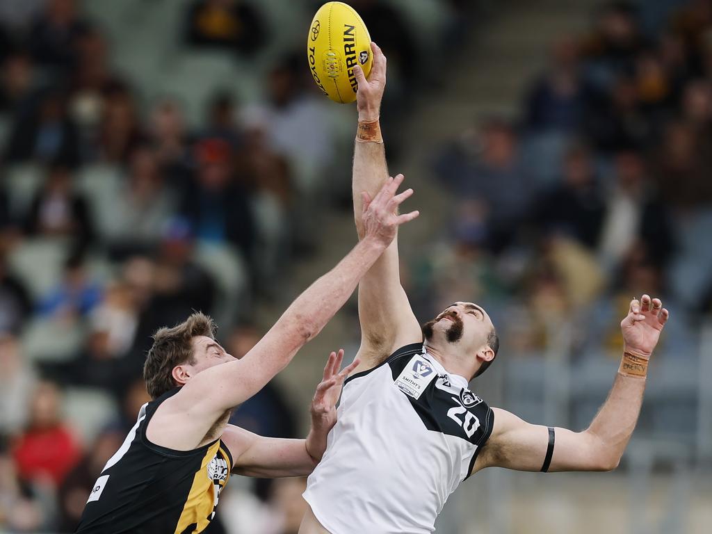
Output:
<path fill-rule="evenodd" d="M 355 66 L 358 82 L 357 108 L 359 123 L 354 147 L 352 193 L 356 229 L 364 234 L 362 192 L 375 194 L 389 179 L 385 149 L 379 127 L 381 100 L 386 84 L 386 58 L 375 43 L 373 68 L 366 80 Z M 402 179 L 399 175 L 397 179 Z M 407 190 L 404 194 L 408 194 Z M 359 285 L 359 318 L 363 367 L 373 367 L 401 345 L 422 340 L 415 315 L 410 308 L 399 273 L 398 239 L 392 241 Z"/>

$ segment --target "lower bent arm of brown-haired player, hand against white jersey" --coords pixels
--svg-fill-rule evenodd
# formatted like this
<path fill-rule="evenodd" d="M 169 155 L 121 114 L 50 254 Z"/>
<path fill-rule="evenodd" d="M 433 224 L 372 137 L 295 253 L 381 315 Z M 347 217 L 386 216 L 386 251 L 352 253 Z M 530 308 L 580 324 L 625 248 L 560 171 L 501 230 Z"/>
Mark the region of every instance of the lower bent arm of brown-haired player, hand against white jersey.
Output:
<path fill-rule="evenodd" d="M 273 478 L 311 473 L 326 450 L 329 431 L 336 424 L 336 403 L 344 380 L 359 364 L 354 360 L 339 372 L 344 351 L 332 352 L 311 404 L 311 429 L 307 439 L 266 438 L 228 425 L 221 439 L 230 449 L 234 469 L 244 476 Z"/>

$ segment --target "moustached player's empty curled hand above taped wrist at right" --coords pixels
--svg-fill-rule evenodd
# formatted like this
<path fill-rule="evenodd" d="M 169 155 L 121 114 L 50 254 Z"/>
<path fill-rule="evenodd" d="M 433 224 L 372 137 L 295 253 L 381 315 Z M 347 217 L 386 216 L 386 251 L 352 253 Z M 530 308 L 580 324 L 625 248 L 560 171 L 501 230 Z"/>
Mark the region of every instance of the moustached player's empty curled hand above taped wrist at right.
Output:
<path fill-rule="evenodd" d="M 624 350 L 649 358 L 669 315 L 659 298 L 643 295 L 631 300 L 628 315 L 621 321 Z"/>

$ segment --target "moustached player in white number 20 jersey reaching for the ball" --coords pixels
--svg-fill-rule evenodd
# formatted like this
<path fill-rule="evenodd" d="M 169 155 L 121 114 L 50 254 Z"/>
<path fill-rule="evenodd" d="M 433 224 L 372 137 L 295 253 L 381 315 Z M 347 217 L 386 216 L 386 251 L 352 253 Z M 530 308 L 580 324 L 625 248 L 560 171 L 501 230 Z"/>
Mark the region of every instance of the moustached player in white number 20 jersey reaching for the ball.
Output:
<path fill-rule="evenodd" d="M 353 191 L 362 201 L 389 179 L 379 131 L 386 60 L 374 53 L 370 80 L 357 70 L 359 123 Z M 397 177 L 397 179 L 402 179 Z M 520 471 L 609 471 L 638 419 L 649 357 L 668 319 L 657 298 L 632 300 L 613 388 L 588 429 L 529 424 L 486 402 L 468 382 L 493 362 L 498 337 L 486 311 L 449 305 L 419 326 L 399 281 L 397 241 L 359 285 L 360 365 L 345 382 L 328 448 L 308 479 L 301 534 L 434 530 L 448 496 L 468 476 L 498 466 Z"/>

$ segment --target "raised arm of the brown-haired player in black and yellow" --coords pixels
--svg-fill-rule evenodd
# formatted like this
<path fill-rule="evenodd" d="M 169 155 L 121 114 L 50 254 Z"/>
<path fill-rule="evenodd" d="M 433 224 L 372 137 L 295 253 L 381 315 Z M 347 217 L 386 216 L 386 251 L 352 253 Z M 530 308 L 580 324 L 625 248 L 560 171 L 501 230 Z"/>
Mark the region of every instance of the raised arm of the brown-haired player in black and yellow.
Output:
<path fill-rule="evenodd" d="M 189 436 L 187 441 L 179 439 L 180 445 L 174 448 L 197 446 L 200 441 L 194 441 L 204 426 L 200 439 L 226 410 L 244 402 L 283 370 L 344 305 L 358 281 L 393 240 L 398 226 L 418 216 L 417 211 L 394 213 L 404 200 L 396 194 L 398 185 L 397 180 L 389 180 L 374 199 L 368 199 L 363 207 L 364 239 L 335 268 L 299 295 L 241 360 L 197 373 L 178 394 L 161 405 L 160 419 L 164 424 L 171 429 L 182 426 L 182 433 Z M 184 424 L 187 419 L 196 426 L 187 428 Z M 152 426 L 156 422 L 152 421 Z"/>

